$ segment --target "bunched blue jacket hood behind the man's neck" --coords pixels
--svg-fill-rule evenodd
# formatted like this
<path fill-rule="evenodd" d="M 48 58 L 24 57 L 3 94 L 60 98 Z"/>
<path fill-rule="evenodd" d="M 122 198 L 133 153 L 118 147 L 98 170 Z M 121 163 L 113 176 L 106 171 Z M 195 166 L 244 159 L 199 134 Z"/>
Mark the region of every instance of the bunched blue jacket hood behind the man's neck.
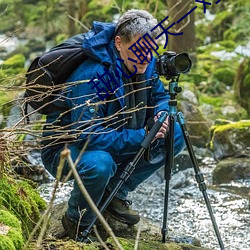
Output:
<path fill-rule="evenodd" d="M 94 21 L 82 44 L 86 55 L 103 64 L 112 64 L 115 27 L 113 23 Z"/>

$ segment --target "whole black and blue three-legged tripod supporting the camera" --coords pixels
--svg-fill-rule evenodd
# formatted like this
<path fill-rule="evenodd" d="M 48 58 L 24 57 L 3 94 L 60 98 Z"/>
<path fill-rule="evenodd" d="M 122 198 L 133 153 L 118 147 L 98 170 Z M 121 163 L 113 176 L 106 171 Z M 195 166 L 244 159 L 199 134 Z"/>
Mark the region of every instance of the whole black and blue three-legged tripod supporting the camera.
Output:
<path fill-rule="evenodd" d="M 167 116 L 169 116 L 169 132 L 168 132 L 168 136 L 166 138 L 166 144 L 167 144 L 168 151 L 166 153 L 166 162 L 165 162 L 166 185 L 165 185 L 165 201 L 164 201 L 164 215 L 163 215 L 163 227 L 162 227 L 162 242 L 163 243 L 166 242 L 166 234 L 168 231 L 167 230 L 167 214 L 168 214 L 169 181 L 171 179 L 172 169 L 173 169 L 173 164 L 174 164 L 174 123 L 175 123 L 175 119 L 177 117 L 178 122 L 181 125 L 181 130 L 182 130 L 185 142 L 186 142 L 186 146 L 187 146 L 191 161 L 192 161 L 193 166 L 194 166 L 196 181 L 199 184 L 199 189 L 200 189 L 200 191 L 202 191 L 203 197 L 205 199 L 206 206 L 207 206 L 207 209 L 209 211 L 209 215 L 210 215 L 217 239 L 219 241 L 219 245 L 221 247 L 221 250 L 224 250 L 225 248 L 223 246 L 223 242 L 221 240 L 218 226 L 216 224 L 216 221 L 215 221 L 215 218 L 213 215 L 213 211 L 212 211 L 212 208 L 211 208 L 211 205 L 210 205 L 210 202 L 208 199 L 208 195 L 206 192 L 206 184 L 204 183 L 203 175 L 199 170 L 198 163 L 197 163 L 197 160 L 195 158 L 195 154 L 193 152 L 193 149 L 192 149 L 192 146 L 191 146 L 191 143 L 189 140 L 189 135 L 188 135 L 188 132 L 186 129 L 184 117 L 180 112 L 177 113 L 177 111 L 176 111 L 177 110 L 176 109 L 177 101 L 176 101 L 175 97 L 176 97 L 177 93 L 181 92 L 181 88 L 178 86 L 178 79 L 179 79 L 179 77 L 177 78 L 176 81 L 174 79 L 172 79 L 169 83 L 169 94 L 170 94 L 169 114 L 167 114 L 167 112 L 161 113 L 159 119 L 155 122 L 155 124 L 153 125 L 153 127 L 150 130 L 150 132 L 148 133 L 148 135 L 142 141 L 140 150 L 138 151 L 138 153 L 136 154 L 134 159 L 130 163 L 128 163 L 128 165 L 124 169 L 123 173 L 121 174 L 120 180 L 117 183 L 116 187 L 109 194 L 108 198 L 102 204 L 102 206 L 99 210 L 102 213 L 107 208 L 107 206 L 110 204 L 110 202 L 112 201 L 112 199 L 114 198 L 114 196 L 116 195 L 116 193 L 118 192 L 118 190 L 120 189 L 122 184 L 129 178 L 129 176 L 134 171 L 136 164 L 138 163 L 138 161 L 140 160 L 140 158 L 142 157 L 144 152 L 147 150 L 150 143 L 155 138 L 155 135 L 157 134 L 157 132 L 161 128 L 161 126 L 162 126 L 163 122 L 166 120 Z M 83 241 L 88 238 L 88 235 L 91 232 L 92 227 L 94 226 L 96 220 L 97 220 L 97 216 L 94 217 L 94 219 L 92 220 L 90 225 L 82 233 Z"/>

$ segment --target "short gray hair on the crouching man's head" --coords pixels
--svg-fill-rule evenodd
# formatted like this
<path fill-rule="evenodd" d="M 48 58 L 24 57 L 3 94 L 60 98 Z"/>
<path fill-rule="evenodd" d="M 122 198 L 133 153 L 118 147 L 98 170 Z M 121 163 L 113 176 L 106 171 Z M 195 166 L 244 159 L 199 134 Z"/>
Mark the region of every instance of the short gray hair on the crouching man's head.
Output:
<path fill-rule="evenodd" d="M 157 20 L 145 10 L 128 10 L 118 20 L 116 36 L 120 36 L 125 43 L 130 42 L 136 35 L 148 33 L 152 38 L 159 34 L 159 28 L 151 30 L 158 24 Z"/>

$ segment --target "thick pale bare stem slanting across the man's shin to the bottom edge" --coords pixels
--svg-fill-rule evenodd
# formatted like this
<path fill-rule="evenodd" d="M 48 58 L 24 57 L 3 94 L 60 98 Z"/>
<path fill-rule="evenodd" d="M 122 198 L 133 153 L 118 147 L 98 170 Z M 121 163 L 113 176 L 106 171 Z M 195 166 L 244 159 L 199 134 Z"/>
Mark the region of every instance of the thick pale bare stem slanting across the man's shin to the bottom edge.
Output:
<path fill-rule="evenodd" d="M 108 234 L 113 238 L 115 245 L 117 246 L 117 248 L 119 250 L 124 250 L 123 247 L 121 246 L 121 244 L 119 243 L 119 241 L 117 240 L 116 236 L 114 235 L 111 227 L 109 226 L 109 224 L 106 222 L 106 220 L 104 219 L 104 217 L 102 216 L 102 214 L 100 213 L 100 211 L 98 210 L 98 208 L 96 207 L 95 203 L 93 202 L 92 198 L 90 197 L 88 191 L 86 190 L 85 186 L 83 185 L 83 182 L 79 176 L 79 174 L 77 173 L 77 170 L 75 168 L 74 162 L 71 158 L 71 154 L 70 154 L 70 150 L 69 149 L 64 149 L 61 152 L 61 157 L 62 158 L 66 158 L 68 160 L 69 166 L 72 169 L 73 172 L 73 176 L 75 178 L 75 181 L 80 189 L 80 191 L 82 192 L 84 198 L 86 199 L 86 201 L 88 202 L 90 208 L 95 212 L 95 214 L 97 215 L 98 219 L 100 220 L 100 222 L 102 223 L 102 225 L 104 226 L 105 230 L 108 232 Z"/>

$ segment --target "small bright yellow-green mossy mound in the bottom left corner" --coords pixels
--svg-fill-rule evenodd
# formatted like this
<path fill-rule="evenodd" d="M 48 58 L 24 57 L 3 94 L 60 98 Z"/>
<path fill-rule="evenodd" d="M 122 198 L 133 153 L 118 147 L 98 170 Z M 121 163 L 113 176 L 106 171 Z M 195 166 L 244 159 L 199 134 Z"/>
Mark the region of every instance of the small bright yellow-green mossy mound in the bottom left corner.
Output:
<path fill-rule="evenodd" d="M 19 250 L 23 244 L 20 221 L 7 210 L 0 209 L 0 249 Z"/>

